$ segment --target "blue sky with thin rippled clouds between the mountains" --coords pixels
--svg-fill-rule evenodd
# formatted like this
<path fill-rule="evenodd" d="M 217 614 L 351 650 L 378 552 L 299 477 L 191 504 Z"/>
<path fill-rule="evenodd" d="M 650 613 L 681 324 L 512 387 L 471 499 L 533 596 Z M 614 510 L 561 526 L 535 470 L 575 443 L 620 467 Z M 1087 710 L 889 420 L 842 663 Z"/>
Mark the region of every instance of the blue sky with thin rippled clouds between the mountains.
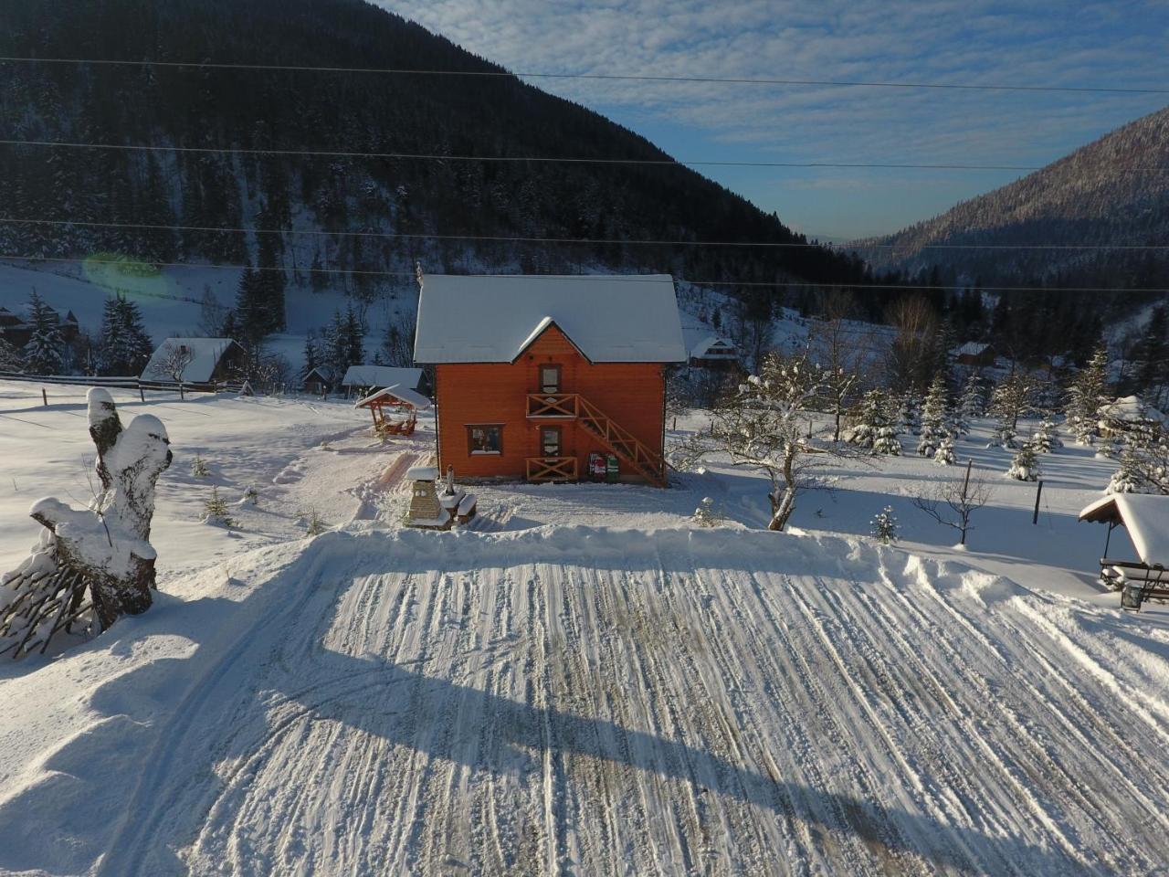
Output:
<path fill-rule="evenodd" d="M 378 0 L 512 70 L 1169 87 L 1169 2 Z M 534 80 L 680 160 L 1043 165 L 1169 95 Z M 893 232 L 1022 175 L 698 168 L 821 239 Z"/>

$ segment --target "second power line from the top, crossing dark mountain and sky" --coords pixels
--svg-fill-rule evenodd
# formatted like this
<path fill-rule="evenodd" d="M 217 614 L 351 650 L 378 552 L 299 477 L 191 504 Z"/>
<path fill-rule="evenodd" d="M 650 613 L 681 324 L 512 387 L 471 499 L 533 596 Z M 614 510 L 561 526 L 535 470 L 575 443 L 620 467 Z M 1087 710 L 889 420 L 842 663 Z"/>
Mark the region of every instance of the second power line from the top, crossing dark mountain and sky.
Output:
<path fill-rule="evenodd" d="M 1046 165 L 973 165 L 973 164 L 913 164 L 877 161 L 717 161 L 653 158 L 584 158 L 552 156 L 443 156 L 417 152 L 366 152 L 339 150 L 251 149 L 241 146 L 152 146 L 146 144 L 77 143 L 65 140 L 0 139 L 4 146 L 47 146 L 82 150 L 118 150 L 125 152 L 185 152 L 195 154 L 238 156 L 299 156 L 306 158 L 378 158 L 403 161 L 486 161 L 496 164 L 567 164 L 567 165 L 643 165 L 662 167 L 844 167 L 924 171 L 1039 171 Z M 1154 173 L 1169 167 L 1115 167 L 1125 173 Z"/>

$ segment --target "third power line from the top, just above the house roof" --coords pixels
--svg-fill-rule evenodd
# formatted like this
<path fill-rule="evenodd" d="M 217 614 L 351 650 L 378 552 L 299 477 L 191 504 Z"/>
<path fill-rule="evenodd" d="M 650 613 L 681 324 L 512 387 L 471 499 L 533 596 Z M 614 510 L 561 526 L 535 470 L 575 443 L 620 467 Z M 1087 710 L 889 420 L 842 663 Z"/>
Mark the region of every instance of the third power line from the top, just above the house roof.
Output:
<path fill-rule="evenodd" d="M 520 237 L 509 235 L 437 235 L 415 234 L 407 232 L 328 232 L 310 228 L 242 228 L 229 226 L 173 226 L 150 222 L 99 222 L 91 220 L 51 220 L 0 216 L 0 222 L 32 226 L 79 226 L 83 228 L 136 228 L 147 232 L 199 232 L 256 235 L 305 235 L 311 237 L 365 237 L 386 240 L 427 240 L 427 241 L 479 241 L 484 243 L 565 243 L 588 246 L 646 246 L 646 247 L 749 247 L 776 249 L 833 249 L 833 250 L 870 250 L 900 249 L 901 244 L 872 243 L 844 247 L 832 243 L 800 243 L 790 241 L 684 241 L 656 239 L 617 239 L 617 237 Z M 929 250 L 1169 250 L 1169 243 L 1116 244 L 1104 243 L 926 243 L 916 249 Z"/>

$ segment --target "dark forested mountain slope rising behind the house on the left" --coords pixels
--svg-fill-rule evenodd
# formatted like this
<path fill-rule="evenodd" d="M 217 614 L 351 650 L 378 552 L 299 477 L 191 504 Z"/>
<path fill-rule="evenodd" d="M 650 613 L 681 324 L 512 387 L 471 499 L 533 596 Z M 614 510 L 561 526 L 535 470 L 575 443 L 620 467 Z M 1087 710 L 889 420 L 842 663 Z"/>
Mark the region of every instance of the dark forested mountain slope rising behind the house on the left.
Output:
<path fill-rule="evenodd" d="M 0 25 L 4 55 L 500 71 L 360 0 L 8 4 Z M 285 267 L 293 284 L 345 285 L 361 294 L 407 285 L 415 260 L 429 271 L 603 265 L 825 282 L 864 275 L 858 261 L 819 248 L 728 254 L 319 234 L 804 240 L 684 167 L 519 160 L 669 157 L 597 113 L 511 77 L 28 63 L 0 64 L 0 138 L 213 150 L 0 146 L 0 201 L 8 216 L 158 226 L 6 222 L 0 223 L 4 254 L 250 258 Z M 216 151 L 224 147 L 351 154 Z M 387 152 L 452 158 L 360 154 Z M 468 156 L 509 160 L 456 158 Z M 172 226 L 282 234 L 267 237 L 272 251 L 263 253 L 251 234 Z M 402 276 L 310 274 L 310 267 Z"/>

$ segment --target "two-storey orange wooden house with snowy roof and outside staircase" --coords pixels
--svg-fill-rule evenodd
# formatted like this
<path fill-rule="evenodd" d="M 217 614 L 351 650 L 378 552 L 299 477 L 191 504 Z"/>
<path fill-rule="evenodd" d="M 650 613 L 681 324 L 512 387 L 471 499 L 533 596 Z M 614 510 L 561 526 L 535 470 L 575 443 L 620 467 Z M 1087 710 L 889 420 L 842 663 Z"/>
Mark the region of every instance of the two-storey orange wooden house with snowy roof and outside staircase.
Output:
<path fill-rule="evenodd" d="M 669 275 L 420 278 L 438 464 L 459 478 L 665 484 L 666 366 L 686 361 Z M 611 460 L 610 460 L 611 456 Z"/>

